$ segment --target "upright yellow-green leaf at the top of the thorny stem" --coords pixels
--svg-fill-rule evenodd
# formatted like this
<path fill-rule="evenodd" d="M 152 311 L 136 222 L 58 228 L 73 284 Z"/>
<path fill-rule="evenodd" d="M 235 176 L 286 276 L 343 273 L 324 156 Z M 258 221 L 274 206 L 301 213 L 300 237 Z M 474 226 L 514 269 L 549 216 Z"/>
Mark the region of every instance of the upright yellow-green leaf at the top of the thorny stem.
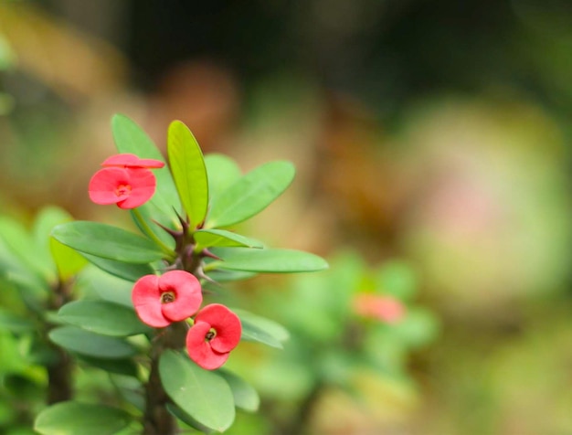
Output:
<path fill-rule="evenodd" d="M 207 168 L 195 136 L 183 122 L 169 125 L 167 154 L 181 203 L 191 228 L 196 228 L 207 216 Z"/>

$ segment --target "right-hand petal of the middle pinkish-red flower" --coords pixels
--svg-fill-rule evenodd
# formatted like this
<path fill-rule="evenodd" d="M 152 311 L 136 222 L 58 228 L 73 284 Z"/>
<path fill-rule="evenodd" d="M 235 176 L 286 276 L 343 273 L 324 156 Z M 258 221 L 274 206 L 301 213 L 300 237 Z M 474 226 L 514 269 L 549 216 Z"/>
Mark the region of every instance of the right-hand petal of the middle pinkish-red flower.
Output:
<path fill-rule="evenodd" d="M 201 283 L 187 271 L 168 271 L 159 278 L 160 292 L 173 292 L 175 301 L 163 303 L 164 317 L 179 322 L 192 316 L 203 302 Z"/>

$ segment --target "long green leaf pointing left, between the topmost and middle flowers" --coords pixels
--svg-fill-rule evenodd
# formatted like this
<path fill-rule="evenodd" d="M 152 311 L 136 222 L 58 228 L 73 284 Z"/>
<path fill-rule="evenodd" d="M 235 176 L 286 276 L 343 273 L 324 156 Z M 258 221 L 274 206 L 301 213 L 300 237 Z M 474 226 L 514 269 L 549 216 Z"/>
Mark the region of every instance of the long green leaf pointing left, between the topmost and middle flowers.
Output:
<path fill-rule="evenodd" d="M 69 248 L 104 259 L 149 263 L 164 257 L 164 252 L 151 240 L 97 222 L 79 220 L 58 225 L 52 236 Z"/>

